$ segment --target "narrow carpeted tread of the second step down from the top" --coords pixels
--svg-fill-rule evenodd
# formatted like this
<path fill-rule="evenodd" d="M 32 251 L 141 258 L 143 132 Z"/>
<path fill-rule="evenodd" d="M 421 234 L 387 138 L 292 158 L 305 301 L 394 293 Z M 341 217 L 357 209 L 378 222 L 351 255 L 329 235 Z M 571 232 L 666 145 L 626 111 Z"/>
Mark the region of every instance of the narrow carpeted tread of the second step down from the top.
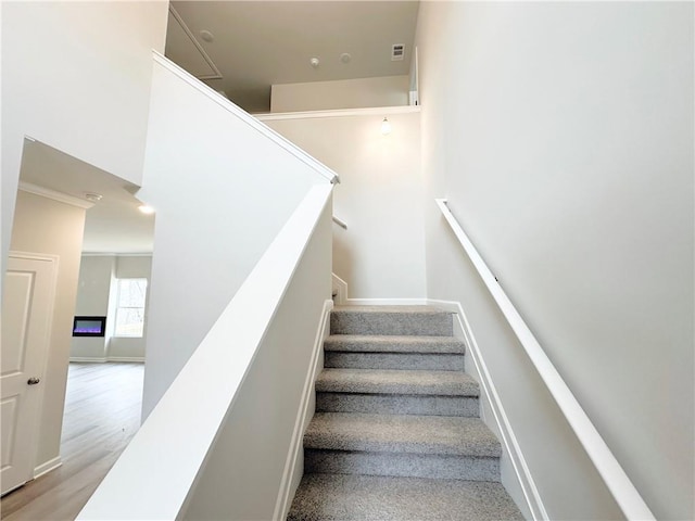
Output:
<path fill-rule="evenodd" d="M 331 334 L 326 351 L 350 353 L 464 354 L 466 345 L 454 336 L 405 336 L 374 334 Z"/>

